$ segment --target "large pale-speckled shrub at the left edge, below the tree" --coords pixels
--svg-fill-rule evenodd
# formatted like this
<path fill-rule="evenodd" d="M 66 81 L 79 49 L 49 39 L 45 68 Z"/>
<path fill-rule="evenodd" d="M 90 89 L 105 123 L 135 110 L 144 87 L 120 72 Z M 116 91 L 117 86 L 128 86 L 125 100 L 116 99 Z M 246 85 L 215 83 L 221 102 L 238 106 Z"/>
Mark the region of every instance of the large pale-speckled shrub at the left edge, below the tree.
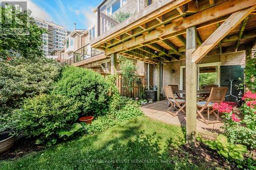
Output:
<path fill-rule="evenodd" d="M 8 118 L 12 109 L 19 108 L 24 99 L 52 89 L 60 70 L 59 63 L 43 57 L 0 61 L 0 131 L 12 128 Z"/>

